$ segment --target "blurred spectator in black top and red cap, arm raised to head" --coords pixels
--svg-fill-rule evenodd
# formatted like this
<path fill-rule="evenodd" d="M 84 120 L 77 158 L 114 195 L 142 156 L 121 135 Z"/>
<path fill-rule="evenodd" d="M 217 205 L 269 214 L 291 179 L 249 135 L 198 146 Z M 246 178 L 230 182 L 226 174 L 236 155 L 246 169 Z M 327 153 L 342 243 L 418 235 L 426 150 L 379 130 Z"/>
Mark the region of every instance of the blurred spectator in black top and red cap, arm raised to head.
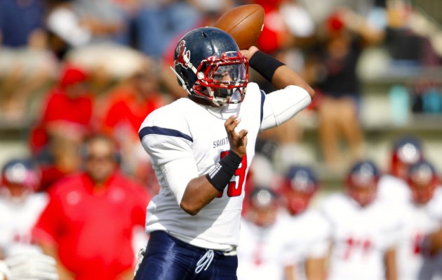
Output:
<path fill-rule="evenodd" d="M 346 8 L 331 13 L 324 23 L 326 35 L 318 42 L 314 76 L 321 93 L 317 109 L 323 160 L 328 168 L 336 169 L 363 156 L 361 85 L 356 66 L 363 48 L 380 42 L 383 33 Z M 348 155 L 341 152 L 341 136 Z"/>

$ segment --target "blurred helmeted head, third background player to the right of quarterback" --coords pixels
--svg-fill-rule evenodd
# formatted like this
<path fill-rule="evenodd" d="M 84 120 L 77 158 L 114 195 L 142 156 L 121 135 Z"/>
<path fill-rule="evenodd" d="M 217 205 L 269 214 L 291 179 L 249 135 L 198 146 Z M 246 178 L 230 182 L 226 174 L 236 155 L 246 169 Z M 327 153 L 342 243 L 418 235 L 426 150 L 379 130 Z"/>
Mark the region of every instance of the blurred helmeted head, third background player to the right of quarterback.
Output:
<path fill-rule="evenodd" d="M 376 198 L 379 178 L 380 171 L 373 161 L 358 161 L 347 174 L 345 191 L 360 206 L 368 206 Z"/>

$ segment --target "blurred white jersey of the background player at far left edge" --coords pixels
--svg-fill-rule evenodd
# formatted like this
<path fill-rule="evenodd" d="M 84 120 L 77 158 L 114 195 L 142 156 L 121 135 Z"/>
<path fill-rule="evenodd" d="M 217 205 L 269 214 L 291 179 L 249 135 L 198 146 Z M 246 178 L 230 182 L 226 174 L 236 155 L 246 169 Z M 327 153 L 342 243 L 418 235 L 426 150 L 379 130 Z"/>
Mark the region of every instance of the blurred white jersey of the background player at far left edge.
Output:
<path fill-rule="evenodd" d="M 45 193 L 29 194 L 20 203 L 0 196 L 0 251 L 13 255 L 27 250 L 41 251 L 32 244 L 31 230 L 48 204 Z"/>

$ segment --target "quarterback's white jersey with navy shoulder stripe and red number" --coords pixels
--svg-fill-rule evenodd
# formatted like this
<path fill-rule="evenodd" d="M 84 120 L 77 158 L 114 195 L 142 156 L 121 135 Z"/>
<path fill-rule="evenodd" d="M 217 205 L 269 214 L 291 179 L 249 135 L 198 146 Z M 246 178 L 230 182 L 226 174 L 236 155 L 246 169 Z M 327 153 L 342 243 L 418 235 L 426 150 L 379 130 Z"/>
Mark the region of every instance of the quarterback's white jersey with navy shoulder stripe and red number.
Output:
<path fill-rule="evenodd" d="M 311 102 L 302 88 L 288 87 L 280 92 L 284 91 L 297 97 L 293 106 L 298 111 Z M 234 114 L 241 119 L 236 130 L 248 131 L 247 154 L 222 195 L 197 215 L 189 215 L 180 208 L 187 183 L 208 173 L 229 151 L 224 124 Z M 248 84 L 246 98 L 239 104 L 215 108 L 181 98 L 149 114 L 139 134 L 161 187 L 147 207 L 147 232 L 165 230 L 203 248 L 227 250 L 237 246 L 244 181 L 262 120 L 268 122 L 272 114 L 272 105 L 266 103 L 266 95 L 255 83 Z"/>

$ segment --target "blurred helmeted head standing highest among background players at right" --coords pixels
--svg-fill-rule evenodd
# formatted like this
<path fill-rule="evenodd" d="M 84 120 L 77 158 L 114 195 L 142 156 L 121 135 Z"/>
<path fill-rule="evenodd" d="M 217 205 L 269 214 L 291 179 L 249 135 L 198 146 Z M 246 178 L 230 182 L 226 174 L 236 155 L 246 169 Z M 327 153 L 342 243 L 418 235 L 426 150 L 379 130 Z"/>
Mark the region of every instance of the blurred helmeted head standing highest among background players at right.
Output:
<path fill-rule="evenodd" d="M 391 175 L 406 179 L 408 167 L 423 158 L 422 144 L 419 139 L 403 137 L 394 143 L 391 152 Z"/>

